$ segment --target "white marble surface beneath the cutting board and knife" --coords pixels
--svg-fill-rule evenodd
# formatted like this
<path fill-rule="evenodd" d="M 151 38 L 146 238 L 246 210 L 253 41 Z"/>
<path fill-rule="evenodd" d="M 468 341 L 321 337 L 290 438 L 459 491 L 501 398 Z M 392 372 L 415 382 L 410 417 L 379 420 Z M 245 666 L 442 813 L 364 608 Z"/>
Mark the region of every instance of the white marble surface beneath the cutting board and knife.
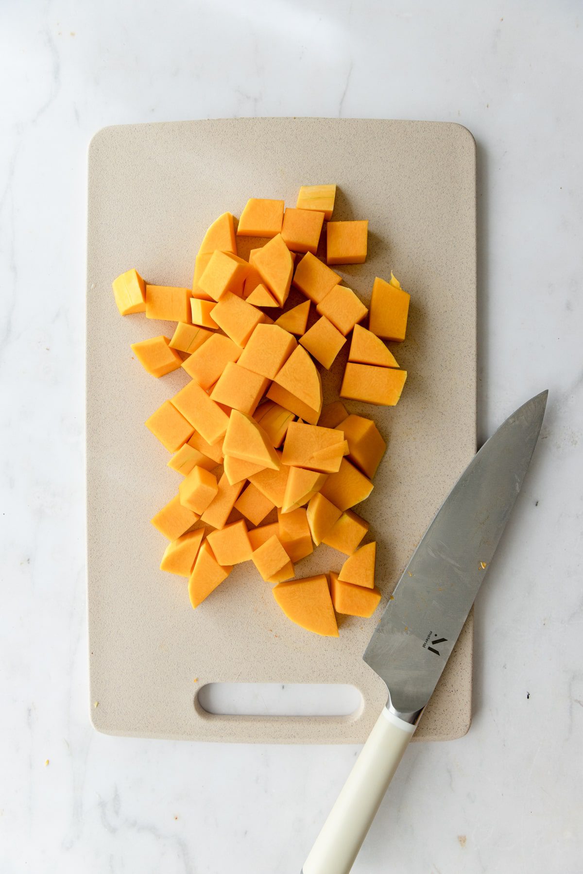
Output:
<path fill-rule="evenodd" d="M 87 715 L 87 142 L 249 114 L 470 128 L 481 436 L 551 392 L 479 596 L 472 728 L 410 750 L 353 871 L 583 870 L 582 31 L 574 0 L 4 0 L 3 874 L 297 874 L 357 754 L 109 738 Z"/>

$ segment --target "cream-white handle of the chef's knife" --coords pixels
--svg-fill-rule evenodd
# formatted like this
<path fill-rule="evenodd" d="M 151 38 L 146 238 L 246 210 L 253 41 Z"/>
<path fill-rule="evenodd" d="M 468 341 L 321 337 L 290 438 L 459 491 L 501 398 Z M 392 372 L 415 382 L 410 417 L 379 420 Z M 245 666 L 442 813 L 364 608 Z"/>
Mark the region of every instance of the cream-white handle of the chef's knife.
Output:
<path fill-rule="evenodd" d="M 316 837 L 302 874 L 348 874 L 416 727 L 385 707 Z"/>

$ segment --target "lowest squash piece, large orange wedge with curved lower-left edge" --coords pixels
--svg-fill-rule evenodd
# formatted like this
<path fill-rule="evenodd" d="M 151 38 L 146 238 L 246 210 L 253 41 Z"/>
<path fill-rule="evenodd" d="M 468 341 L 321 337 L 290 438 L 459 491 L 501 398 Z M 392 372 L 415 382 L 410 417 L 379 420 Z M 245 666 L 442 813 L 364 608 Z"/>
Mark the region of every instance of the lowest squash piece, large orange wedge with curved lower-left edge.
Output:
<path fill-rule="evenodd" d="M 324 574 L 280 583 L 272 590 L 288 619 L 316 635 L 337 637 L 338 626 Z"/>

